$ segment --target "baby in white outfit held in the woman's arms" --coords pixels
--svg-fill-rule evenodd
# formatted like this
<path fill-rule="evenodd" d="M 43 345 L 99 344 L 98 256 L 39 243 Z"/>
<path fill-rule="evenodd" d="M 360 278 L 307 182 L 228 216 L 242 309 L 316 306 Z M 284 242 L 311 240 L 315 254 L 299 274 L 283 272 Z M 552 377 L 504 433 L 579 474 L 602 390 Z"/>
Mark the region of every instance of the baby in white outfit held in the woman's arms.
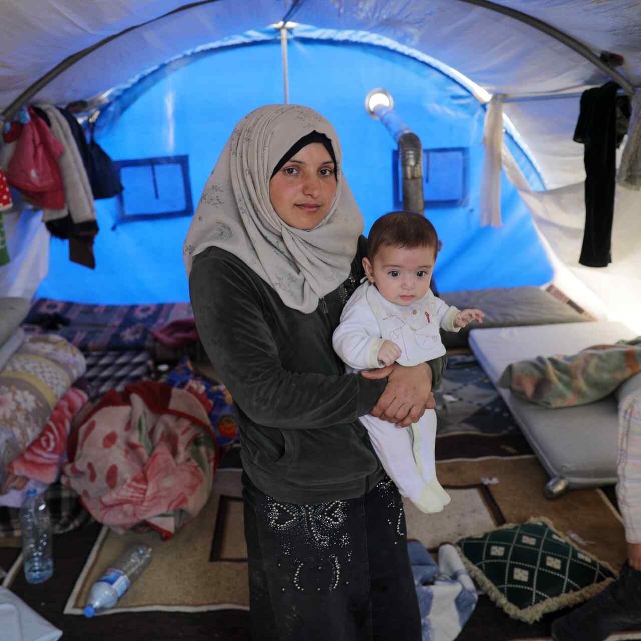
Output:
<path fill-rule="evenodd" d="M 367 282 L 345 304 L 333 335 L 349 372 L 424 363 L 445 354 L 439 327 L 458 331 L 482 322 L 483 312 L 460 312 L 430 291 L 437 251 L 436 229 L 422 215 L 392 212 L 374 223 L 363 258 Z M 434 410 L 404 429 L 369 414 L 360 420 L 399 492 L 421 512 L 440 512 L 451 499 L 436 477 Z"/>

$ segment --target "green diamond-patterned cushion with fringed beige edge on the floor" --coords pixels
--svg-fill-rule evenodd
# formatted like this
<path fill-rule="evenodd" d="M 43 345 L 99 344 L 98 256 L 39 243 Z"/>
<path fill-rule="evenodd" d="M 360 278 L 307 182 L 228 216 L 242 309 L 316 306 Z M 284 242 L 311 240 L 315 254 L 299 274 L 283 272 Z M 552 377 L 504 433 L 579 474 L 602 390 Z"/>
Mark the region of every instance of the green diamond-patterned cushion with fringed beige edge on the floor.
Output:
<path fill-rule="evenodd" d="M 585 601 L 616 578 L 544 517 L 456 541 L 470 576 L 498 606 L 528 623 Z"/>

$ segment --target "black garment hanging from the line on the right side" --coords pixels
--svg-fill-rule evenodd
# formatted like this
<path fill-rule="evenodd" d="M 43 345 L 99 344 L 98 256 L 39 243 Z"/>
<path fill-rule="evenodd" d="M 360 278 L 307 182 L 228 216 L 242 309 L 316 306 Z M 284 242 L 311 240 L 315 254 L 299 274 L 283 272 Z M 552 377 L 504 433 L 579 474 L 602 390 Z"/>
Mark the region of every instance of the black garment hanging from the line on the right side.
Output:
<path fill-rule="evenodd" d="M 628 129 L 628 96 L 617 96 L 619 85 L 608 82 L 581 96 L 574 141 L 585 146 L 585 230 L 579 263 L 607 267 L 614 213 L 615 149 Z"/>

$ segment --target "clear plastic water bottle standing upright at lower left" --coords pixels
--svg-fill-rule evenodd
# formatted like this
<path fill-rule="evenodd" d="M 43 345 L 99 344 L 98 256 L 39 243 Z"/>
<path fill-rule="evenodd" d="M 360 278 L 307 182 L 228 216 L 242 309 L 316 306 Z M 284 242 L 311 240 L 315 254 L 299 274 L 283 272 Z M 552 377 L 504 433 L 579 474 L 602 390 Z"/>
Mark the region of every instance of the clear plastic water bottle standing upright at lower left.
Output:
<path fill-rule="evenodd" d="M 29 488 L 20 508 L 22 563 L 29 583 L 42 583 L 53 574 L 51 515 L 44 494 Z"/>

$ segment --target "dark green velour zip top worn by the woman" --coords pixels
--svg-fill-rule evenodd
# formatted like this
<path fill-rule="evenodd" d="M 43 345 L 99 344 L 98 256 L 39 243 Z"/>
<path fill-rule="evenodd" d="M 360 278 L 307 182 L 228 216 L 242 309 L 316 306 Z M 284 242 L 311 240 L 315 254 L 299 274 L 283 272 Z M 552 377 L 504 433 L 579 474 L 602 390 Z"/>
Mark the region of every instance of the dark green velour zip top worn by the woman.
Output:
<path fill-rule="evenodd" d="M 251 481 L 290 503 L 351 499 L 374 487 L 383 468 L 358 417 L 372 410 L 387 379 L 345 374 L 331 337 L 364 276 L 360 237 L 351 274 L 312 313 L 278 292 L 233 254 L 209 247 L 194 258 L 190 297 L 203 347 L 234 399 L 241 457 Z M 430 365 L 433 385 L 445 369 Z"/>

